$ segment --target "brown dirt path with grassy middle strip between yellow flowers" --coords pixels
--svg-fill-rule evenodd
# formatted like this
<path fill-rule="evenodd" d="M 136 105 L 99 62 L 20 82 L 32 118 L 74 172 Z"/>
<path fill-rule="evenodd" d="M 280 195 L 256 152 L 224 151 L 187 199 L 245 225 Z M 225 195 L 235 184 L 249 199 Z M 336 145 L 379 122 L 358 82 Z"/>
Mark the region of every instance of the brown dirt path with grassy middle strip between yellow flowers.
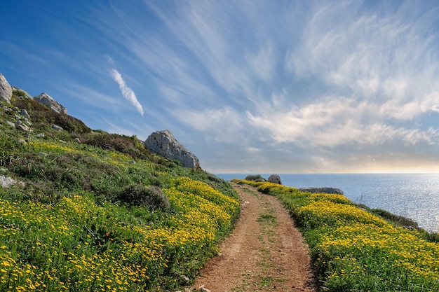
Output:
<path fill-rule="evenodd" d="M 234 186 L 241 197 L 236 228 L 186 291 L 315 291 L 308 246 L 288 211 L 275 197 Z"/>

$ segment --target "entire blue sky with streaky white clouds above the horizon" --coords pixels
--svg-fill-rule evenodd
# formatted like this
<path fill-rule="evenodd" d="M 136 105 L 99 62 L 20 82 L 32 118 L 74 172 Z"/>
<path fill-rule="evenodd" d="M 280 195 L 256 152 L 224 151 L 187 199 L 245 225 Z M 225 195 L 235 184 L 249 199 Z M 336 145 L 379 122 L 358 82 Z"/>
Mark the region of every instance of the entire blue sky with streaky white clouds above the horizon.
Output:
<path fill-rule="evenodd" d="M 212 173 L 439 172 L 438 1 L 4 1 L 0 72 Z"/>

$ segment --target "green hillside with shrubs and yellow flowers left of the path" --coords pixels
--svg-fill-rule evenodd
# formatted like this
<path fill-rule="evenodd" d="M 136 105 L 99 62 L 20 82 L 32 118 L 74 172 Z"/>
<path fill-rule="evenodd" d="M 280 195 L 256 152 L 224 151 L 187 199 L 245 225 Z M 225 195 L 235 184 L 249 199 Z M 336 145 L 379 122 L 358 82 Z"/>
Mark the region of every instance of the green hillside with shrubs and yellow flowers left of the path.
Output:
<path fill-rule="evenodd" d="M 233 188 L 20 95 L 0 103 L 0 175 L 18 182 L 0 187 L 0 291 L 188 284 L 236 221 Z M 22 109 L 29 132 L 7 123 Z"/>

